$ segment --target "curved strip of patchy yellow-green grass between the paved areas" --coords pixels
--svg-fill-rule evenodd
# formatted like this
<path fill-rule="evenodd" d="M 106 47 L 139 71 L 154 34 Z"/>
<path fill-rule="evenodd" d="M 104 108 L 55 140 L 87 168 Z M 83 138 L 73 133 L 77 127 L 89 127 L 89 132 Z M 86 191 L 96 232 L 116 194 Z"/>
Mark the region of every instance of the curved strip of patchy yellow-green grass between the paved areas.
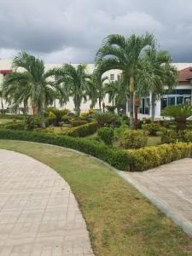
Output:
<path fill-rule="evenodd" d="M 30 155 L 65 178 L 79 201 L 96 255 L 192 255 L 192 238 L 102 163 L 38 143 L 0 140 L 0 148 Z"/>

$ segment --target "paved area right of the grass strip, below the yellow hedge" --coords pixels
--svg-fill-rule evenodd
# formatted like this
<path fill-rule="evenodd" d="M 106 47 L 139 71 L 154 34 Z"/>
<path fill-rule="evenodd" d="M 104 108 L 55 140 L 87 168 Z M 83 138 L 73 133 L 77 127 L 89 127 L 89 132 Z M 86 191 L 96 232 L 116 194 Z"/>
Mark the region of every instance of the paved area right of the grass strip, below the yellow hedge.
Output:
<path fill-rule="evenodd" d="M 147 172 L 124 172 L 124 176 L 153 202 L 156 199 L 162 203 L 164 212 L 192 235 L 192 159 L 177 160 Z"/>

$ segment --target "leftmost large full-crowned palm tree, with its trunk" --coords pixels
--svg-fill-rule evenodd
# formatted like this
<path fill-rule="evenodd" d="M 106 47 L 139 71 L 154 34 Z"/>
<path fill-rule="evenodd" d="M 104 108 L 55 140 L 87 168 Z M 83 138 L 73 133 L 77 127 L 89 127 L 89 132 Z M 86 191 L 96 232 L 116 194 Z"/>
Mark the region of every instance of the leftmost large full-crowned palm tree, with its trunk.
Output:
<path fill-rule="evenodd" d="M 26 52 L 20 52 L 15 56 L 13 68 L 15 72 L 8 74 L 3 82 L 4 95 L 12 97 L 14 102 L 23 101 L 24 105 L 30 98 L 44 127 L 44 108 L 54 102 L 55 93 L 59 90 L 50 79 L 53 74 L 45 72 L 44 61 Z M 23 68 L 24 72 L 17 72 L 18 68 Z"/>

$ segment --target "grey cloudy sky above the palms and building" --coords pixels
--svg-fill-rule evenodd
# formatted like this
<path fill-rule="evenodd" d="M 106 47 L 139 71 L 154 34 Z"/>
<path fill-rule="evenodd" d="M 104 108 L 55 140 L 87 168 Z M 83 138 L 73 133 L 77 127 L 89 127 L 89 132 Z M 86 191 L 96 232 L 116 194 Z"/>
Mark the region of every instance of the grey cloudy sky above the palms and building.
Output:
<path fill-rule="evenodd" d="M 0 58 L 26 50 L 52 63 L 92 63 L 111 33 L 153 32 L 173 61 L 192 62 L 191 0 L 0 0 Z"/>

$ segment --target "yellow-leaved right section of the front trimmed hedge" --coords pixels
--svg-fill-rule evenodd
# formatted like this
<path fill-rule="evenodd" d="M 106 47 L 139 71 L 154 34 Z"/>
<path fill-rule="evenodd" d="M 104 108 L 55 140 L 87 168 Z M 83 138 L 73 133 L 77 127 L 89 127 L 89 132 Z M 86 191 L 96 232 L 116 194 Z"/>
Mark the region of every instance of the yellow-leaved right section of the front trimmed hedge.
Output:
<path fill-rule="evenodd" d="M 163 144 L 127 150 L 129 171 L 141 172 L 169 163 L 173 160 L 192 156 L 192 143 Z"/>

